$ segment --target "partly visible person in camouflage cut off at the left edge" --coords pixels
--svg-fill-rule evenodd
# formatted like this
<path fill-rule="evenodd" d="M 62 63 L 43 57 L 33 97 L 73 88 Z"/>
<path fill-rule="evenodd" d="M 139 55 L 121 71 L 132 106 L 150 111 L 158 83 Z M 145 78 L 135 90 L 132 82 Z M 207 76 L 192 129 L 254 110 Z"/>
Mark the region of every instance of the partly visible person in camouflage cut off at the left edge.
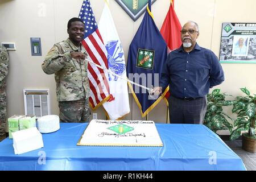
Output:
<path fill-rule="evenodd" d="M 6 138 L 6 77 L 9 69 L 9 55 L 5 47 L 0 45 L 0 142 Z"/>

